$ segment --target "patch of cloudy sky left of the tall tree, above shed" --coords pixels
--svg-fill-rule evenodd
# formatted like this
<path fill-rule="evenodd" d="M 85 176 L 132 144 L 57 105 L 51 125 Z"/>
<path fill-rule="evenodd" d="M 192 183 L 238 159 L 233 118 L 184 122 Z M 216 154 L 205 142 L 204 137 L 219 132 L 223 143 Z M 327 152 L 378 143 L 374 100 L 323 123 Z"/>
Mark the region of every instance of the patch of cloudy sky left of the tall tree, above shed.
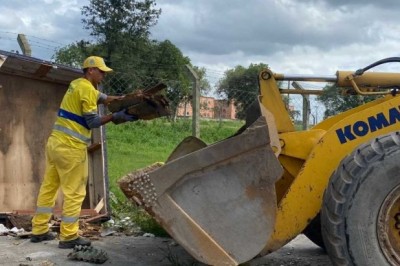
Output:
<path fill-rule="evenodd" d="M 31 43 L 33 56 L 50 59 L 55 49 L 85 39 L 80 8 L 84 1 L 0 0 L 0 49 L 20 50 L 17 34 Z"/>

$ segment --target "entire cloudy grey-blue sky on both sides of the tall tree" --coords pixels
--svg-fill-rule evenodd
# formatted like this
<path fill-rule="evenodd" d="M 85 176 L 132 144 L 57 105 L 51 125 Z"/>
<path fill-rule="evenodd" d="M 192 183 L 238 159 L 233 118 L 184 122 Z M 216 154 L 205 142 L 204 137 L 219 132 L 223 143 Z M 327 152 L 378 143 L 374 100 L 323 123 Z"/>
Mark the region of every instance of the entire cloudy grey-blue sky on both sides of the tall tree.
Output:
<path fill-rule="evenodd" d="M 88 2 L 0 0 L 0 50 L 19 50 L 24 33 L 33 56 L 50 59 L 57 47 L 88 39 L 80 12 Z M 172 41 L 210 79 L 260 62 L 280 73 L 333 75 L 400 52 L 398 0 L 158 0 L 157 7 L 152 38 Z"/>

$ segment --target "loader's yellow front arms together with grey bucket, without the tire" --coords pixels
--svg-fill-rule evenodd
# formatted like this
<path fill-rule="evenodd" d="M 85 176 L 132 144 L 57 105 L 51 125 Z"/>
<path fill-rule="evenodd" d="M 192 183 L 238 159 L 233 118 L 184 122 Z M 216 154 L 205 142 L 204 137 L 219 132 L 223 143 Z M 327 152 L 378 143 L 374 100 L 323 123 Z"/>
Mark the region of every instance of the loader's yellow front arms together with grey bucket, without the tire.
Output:
<path fill-rule="evenodd" d="M 397 86 L 400 74 L 338 71 L 320 78 L 387 95 L 306 131 L 295 130 L 280 95 L 277 84 L 287 79 L 295 78 L 260 73 L 261 116 L 242 133 L 209 146 L 187 140 L 164 165 L 120 180 L 125 195 L 203 263 L 238 265 L 288 243 L 320 212 L 341 161 L 400 129 L 400 98 L 380 87 Z"/>

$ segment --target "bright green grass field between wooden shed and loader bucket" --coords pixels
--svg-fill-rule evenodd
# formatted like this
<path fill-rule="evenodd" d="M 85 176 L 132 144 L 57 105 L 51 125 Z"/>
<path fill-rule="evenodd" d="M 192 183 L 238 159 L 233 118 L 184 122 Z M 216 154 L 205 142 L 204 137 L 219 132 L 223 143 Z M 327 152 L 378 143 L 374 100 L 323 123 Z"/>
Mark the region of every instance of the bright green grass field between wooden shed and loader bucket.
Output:
<path fill-rule="evenodd" d="M 232 136 L 243 121 L 207 121 L 200 123 L 201 139 L 207 144 Z M 192 121 L 167 119 L 138 121 L 106 126 L 108 174 L 110 179 L 111 207 L 116 220 L 131 217 L 142 231 L 165 235 L 142 209 L 127 202 L 117 181 L 124 175 L 151 165 L 164 162 L 174 148 L 192 132 Z"/>

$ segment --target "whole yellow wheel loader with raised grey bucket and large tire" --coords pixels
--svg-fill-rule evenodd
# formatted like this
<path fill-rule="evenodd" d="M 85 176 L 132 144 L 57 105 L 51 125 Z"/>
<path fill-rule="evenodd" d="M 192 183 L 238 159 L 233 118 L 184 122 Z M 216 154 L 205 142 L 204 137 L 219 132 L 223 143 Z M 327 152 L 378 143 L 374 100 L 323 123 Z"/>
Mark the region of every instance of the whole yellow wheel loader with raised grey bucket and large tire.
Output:
<path fill-rule="evenodd" d="M 245 263 L 301 233 L 334 265 L 400 265 L 400 73 L 372 71 L 390 62 L 400 58 L 328 76 L 264 69 L 237 134 L 188 137 L 119 185 L 208 265 Z M 299 131 L 278 88 L 286 80 L 380 97 Z"/>

